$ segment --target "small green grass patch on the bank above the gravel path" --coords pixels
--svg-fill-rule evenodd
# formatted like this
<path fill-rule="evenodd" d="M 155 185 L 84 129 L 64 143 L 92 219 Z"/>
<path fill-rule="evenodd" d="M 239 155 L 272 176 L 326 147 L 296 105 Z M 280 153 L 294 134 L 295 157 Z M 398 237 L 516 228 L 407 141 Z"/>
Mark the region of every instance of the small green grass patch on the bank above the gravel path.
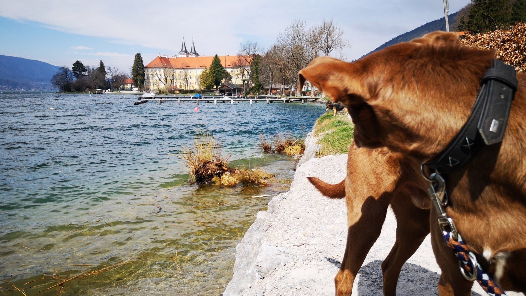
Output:
<path fill-rule="evenodd" d="M 314 136 L 320 137 L 318 156 L 347 153 L 354 131 L 355 126 L 347 116 L 332 116 L 332 111 L 323 114 L 314 126 Z"/>

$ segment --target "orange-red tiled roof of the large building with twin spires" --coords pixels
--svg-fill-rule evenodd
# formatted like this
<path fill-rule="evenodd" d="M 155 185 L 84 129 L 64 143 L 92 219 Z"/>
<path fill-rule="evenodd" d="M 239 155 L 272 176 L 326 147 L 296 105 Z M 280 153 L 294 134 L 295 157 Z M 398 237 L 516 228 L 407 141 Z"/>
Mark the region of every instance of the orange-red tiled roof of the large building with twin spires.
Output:
<path fill-rule="evenodd" d="M 199 56 L 199 57 L 178 57 L 178 58 L 166 58 L 156 57 L 152 60 L 146 68 L 208 68 L 212 64 L 213 56 Z M 237 56 L 219 56 L 221 65 L 225 68 L 232 68 L 237 60 Z M 247 64 L 248 66 L 248 64 Z"/>

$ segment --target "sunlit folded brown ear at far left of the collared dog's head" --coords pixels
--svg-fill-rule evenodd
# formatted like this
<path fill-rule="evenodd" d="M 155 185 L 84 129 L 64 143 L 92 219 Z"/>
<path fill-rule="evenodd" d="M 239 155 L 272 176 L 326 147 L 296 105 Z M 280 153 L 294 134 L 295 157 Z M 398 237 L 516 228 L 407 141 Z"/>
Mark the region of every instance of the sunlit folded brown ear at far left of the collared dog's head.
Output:
<path fill-rule="evenodd" d="M 308 80 L 333 102 L 347 103 L 349 94 L 361 94 L 356 66 L 331 57 L 318 57 L 298 73 L 298 89 Z"/>

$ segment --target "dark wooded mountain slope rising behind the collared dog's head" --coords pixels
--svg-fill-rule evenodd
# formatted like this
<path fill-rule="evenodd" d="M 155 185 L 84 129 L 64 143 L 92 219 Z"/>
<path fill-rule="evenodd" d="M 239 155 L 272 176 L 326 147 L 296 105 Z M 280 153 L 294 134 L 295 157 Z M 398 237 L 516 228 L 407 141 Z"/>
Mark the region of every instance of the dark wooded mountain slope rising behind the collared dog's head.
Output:
<path fill-rule="evenodd" d="M 463 14 L 464 9 L 467 9 L 466 7 L 462 8 L 460 11 L 456 13 L 452 13 L 448 15 L 448 22 L 449 22 L 449 30 L 454 31 L 457 28 L 457 15 L 459 13 Z M 439 19 L 435 19 L 432 22 L 426 23 L 421 25 L 420 27 L 416 29 L 412 29 L 407 33 L 403 33 L 402 35 L 398 35 L 395 38 L 392 38 L 388 42 L 378 46 L 377 48 L 373 49 L 370 53 L 366 54 L 365 56 L 377 52 L 380 49 L 386 48 L 390 45 L 397 44 L 400 42 L 407 42 L 414 38 L 422 37 L 423 35 L 426 35 L 427 33 L 431 33 L 434 31 L 445 31 L 446 30 L 446 20 L 444 17 L 441 17 Z M 362 57 L 365 57 L 362 56 Z"/>

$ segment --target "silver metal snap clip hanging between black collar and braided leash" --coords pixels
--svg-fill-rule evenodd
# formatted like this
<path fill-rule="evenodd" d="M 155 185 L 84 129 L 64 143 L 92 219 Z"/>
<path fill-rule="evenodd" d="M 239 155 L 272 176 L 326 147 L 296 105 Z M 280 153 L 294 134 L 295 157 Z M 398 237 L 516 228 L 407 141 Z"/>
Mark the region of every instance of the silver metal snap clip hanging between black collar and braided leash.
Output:
<path fill-rule="evenodd" d="M 446 181 L 444 181 L 444 178 L 438 173 L 432 173 L 431 176 L 429 176 L 429 179 L 431 182 L 428 188 L 428 195 L 433 202 L 434 209 L 437 211 L 440 229 L 442 230 L 442 233 L 451 232 L 452 238 L 457 240 L 458 233 L 455 224 L 453 223 L 453 220 L 448 217 L 443 206 L 444 201 L 447 201 Z"/>

